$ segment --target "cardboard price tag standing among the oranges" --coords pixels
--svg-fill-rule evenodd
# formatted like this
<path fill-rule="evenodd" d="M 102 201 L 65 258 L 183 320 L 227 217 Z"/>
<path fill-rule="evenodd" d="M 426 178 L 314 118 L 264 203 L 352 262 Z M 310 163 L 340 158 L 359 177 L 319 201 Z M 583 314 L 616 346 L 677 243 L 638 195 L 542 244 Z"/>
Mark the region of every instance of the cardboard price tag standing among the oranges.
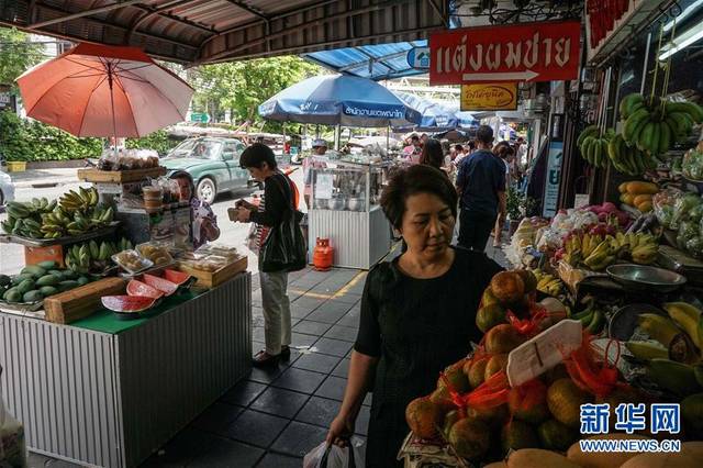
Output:
<path fill-rule="evenodd" d="M 507 381 L 521 386 L 555 367 L 581 346 L 581 322 L 562 320 L 507 355 Z"/>

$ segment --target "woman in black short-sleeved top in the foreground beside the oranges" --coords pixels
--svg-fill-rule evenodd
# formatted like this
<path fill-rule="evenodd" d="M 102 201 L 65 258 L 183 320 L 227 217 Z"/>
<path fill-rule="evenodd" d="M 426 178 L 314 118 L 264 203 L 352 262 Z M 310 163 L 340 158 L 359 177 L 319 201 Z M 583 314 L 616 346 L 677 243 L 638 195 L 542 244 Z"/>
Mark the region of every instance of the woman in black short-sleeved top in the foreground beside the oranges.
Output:
<path fill-rule="evenodd" d="M 395 457 L 410 432 L 405 406 L 432 392 L 439 371 L 479 343 L 476 311 L 501 268 L 483 253 L 449 245 L 457 194 L 440 170 L 399 171 L 381 207 L 408 250 L 366 279 L 344 401 L 327 442 L 345 444 L 372 391 L 366 466 L 392 468 L 402 466 Z"/>

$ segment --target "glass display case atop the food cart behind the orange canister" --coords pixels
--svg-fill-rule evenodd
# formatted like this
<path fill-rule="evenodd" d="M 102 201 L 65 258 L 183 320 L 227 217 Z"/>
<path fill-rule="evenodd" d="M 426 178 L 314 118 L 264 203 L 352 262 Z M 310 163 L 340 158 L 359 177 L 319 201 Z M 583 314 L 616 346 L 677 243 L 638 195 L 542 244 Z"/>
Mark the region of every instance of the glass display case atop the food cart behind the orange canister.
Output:
<path fill-rule="evenodd" d="M 369 212 L 378 207 L 389 164 L 336 161 L 312 170 L 315 210 Z"/>

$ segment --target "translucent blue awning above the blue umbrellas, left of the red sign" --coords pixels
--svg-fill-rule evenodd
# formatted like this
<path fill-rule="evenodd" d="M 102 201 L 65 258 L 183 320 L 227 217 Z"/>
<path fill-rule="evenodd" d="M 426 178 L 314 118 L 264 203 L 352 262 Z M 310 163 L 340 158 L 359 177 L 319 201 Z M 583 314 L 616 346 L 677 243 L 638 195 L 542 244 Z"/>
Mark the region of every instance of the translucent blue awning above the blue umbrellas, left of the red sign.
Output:
<path fill-rule="evenodd" d="M 408 63 L 408 53 L 411 49 L 426 46 L 427 41 L 362 45 L 314 52 L 304 54 L 303 58 L 339 74 L 379 81 L 427 73 L 413 68 Z"/>

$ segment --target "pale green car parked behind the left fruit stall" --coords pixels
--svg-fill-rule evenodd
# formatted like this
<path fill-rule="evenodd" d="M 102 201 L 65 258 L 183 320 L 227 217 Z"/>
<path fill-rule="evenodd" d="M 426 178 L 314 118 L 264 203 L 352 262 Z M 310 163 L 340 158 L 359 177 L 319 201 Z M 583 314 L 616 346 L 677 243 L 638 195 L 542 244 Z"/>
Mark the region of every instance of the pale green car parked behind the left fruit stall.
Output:
<path fill-rule="evenodd" d="M 239 167 L 239 155 L 245 147 L 236 138 L 188 138 L 161 158 L 160 164 L 169 170 L 190 174 L 198 198 L 212 203 L 219 193 L 256 183 L 249 172 Z"/>

